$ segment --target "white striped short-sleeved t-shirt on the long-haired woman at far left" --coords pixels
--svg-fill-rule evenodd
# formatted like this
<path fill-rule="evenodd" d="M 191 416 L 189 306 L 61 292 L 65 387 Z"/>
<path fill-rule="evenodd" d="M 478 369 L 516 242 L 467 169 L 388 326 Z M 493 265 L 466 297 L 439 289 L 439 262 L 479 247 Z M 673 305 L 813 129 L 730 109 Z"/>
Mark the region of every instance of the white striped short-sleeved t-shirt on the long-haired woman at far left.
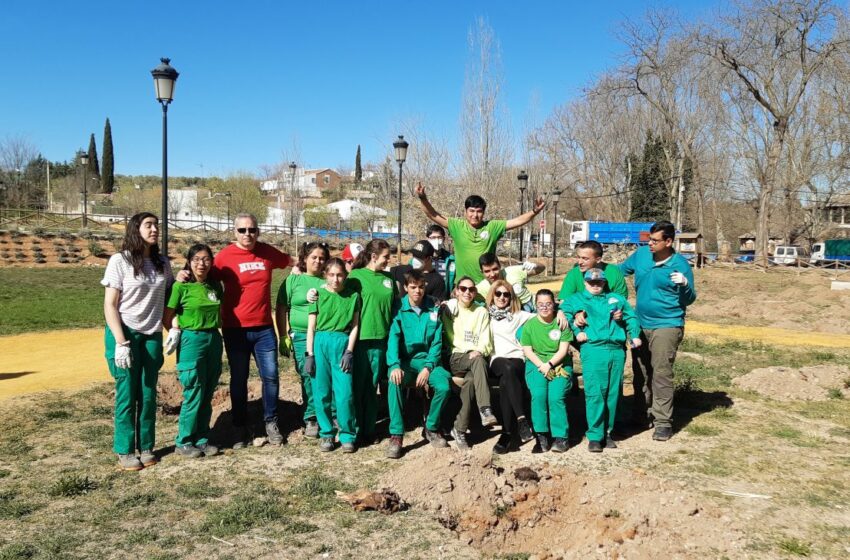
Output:
<path fill-rule="evenodd" d="M 106 272 L 100 281 L 103 286 L 121 292 L 118 296 L 121 322 L 143 334 L 162 330 L 165 292 L 174 282 L 171 264 L 167 258 L 160 258 L 164 263 L 162 273 L 157 273 L 152 260 L 145 259 L 141 274 L 133 276 L 129 255 L 126 252 L 115 253 L 109 257 Z"/>

